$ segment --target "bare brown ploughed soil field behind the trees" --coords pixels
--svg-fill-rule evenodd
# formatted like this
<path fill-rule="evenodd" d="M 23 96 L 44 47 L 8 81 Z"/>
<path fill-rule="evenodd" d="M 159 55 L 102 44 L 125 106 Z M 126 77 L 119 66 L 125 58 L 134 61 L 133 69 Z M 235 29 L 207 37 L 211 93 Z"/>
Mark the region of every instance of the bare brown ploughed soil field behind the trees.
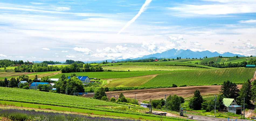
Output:
<path fill-rule="evenodd" d="M 237 85 L 237 86 L 238 86 L 238 89 L 242 87 L 242 85 Z M 134 99 L 134 95 L 136 92 L 136 98 L 139 98 L 139 102 L 141 102 L 143 100 L 149 101 L 150 99 L 162 99 L 162 98 L 164 99 L 164 95 L 168 97 L 169 95 L 174 95 L 174 94 L 181 96 L 183 98 L 189 98 L 189 97 L 193 97 L 194 92 L 196 90 L 199 90 L 202 96 L 219 94 L 220 85 L 112 91 L 111 97 L 115 95 L 115 98 L 117 99 L 117 96 L 119 96 L 120 93 L 122 92 L 125 97 Z M 106 92 L 106 94 L 107 94 L 107 97 L 110 99 L 110 92 Z"/>

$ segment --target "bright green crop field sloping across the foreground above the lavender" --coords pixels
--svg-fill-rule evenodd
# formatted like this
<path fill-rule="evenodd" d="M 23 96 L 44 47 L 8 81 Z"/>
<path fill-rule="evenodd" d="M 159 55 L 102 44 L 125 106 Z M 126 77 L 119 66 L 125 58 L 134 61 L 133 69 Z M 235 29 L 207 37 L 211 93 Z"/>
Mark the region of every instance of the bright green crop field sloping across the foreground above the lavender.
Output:
<path fill-rule="evenodd" d="M 113 102 L 106 102 L 96 99 L 78 97 L 78 96 L 71 96 L 71 95 L 64 95 L 64 94 L 57 94 L 57 93 L 49 93 L 49 92 L 42 92 L 42 91 L 35 91 L 35 90 L 24 90 L 18 88 L 7 88 L 7 87 L 0 87 L 0 101 L 2 104 L 3 102 L 7 102 L 8 104 L 22 105 L 23 107 L 29 108 L 51 108 L 58 111 L 70 111 L 71 109 L 74 112 L 96 112 L 102 115 L 119 115 L 120 117 L 132 116 L 135 117 L 148 117 L 146 119 L 158 119 L 160 116 L 145 114 L 144 112 L 147 109 L 142 107 L 134 107 L 130 106 L 128 109 L 128 105 L 117 104 Z M 25 104 L 30 103 L 30 104 Z M 40 104 L 40 105 L 38 105 Z M 49 106 L 46 106 L 49 105 Z M 42 107 L 41 107 L 42 106 Z M 117 107 L 117 108 L 115 108 Z M 140 113 L 143 112 L 143 113 Z M 165 117 L 166 120 L 175 120 L 175 118 Z M 180 119 L 184 120 L 184 119 Z"/>

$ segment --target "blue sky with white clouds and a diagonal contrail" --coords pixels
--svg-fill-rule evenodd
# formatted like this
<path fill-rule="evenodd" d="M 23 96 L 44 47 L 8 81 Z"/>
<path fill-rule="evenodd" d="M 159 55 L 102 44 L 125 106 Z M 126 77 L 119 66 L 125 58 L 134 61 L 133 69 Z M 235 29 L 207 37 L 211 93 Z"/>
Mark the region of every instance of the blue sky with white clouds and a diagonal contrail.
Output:
<path fill-rule="evenodd" d="M 0 1 L 0 59 L 86 62 L 172 48 L 256 56 L 255 14 L 255 0 Z"/>

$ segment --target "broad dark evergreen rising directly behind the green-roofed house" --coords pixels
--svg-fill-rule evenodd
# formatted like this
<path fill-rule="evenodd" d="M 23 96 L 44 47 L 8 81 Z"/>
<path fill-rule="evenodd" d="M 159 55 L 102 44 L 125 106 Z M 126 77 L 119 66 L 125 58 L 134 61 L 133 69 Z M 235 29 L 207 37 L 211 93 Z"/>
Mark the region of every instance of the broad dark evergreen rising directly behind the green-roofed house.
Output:
<path fill-rule="evenodd" d="M 224 81 L 223 84 L 220 87 L 220 93 L 222 93 L 222 96 L 225 98 L 237 98 L 239 90 L 237 89 L 237 85 L 235 83 L 232 83 L 231 81 L 227 80 Z"/>

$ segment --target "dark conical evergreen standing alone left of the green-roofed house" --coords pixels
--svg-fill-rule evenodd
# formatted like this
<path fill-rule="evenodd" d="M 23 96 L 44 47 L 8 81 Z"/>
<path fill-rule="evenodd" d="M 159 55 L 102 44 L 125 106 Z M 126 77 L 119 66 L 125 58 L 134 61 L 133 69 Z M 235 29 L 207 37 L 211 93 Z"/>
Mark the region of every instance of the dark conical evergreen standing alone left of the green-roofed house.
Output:
<path fill-rule="evenodd" d="M 189 104 L 191 104 L 191 107 L 194 110 L 200 110 L 202 108 L 203 102 L 204 102 L 204 99 L 203 99 L 202 95 L 200 94 L 199 90 L 196 90 L 194 92 L 193 97 L 189 100 Z"/>

